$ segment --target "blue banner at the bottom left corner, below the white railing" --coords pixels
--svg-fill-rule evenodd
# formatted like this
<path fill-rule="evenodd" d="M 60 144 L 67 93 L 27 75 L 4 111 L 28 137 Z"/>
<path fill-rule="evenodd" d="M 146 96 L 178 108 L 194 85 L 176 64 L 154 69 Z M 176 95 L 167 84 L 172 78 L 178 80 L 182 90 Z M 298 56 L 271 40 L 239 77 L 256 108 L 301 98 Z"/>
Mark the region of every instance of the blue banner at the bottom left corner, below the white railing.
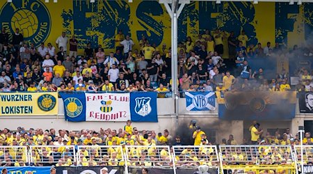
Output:
<path fill-rule="evenodd" d="M 6 167 L 8 173 L 40 173 L 40 174 L 49 174 L 51 167 Z M 0 167 L 0 171 L 2 171 L 3 167 Z"/>

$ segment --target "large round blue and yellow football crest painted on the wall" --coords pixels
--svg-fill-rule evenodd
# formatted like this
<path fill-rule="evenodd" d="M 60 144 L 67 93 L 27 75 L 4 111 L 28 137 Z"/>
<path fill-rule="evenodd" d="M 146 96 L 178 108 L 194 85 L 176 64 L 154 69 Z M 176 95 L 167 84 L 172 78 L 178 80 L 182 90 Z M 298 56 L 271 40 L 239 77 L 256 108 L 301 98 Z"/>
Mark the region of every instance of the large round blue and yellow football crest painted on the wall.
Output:
<path fill-rule="evenodd" d="M 15 29 L 24 36 L 24 43 L 35 47 L 47 40 L 51 31 L 51 17 L 49 10 L 39 0 L 19 0 L 5 3 L 0 10 L 1 28 L 8 33 Z"/>

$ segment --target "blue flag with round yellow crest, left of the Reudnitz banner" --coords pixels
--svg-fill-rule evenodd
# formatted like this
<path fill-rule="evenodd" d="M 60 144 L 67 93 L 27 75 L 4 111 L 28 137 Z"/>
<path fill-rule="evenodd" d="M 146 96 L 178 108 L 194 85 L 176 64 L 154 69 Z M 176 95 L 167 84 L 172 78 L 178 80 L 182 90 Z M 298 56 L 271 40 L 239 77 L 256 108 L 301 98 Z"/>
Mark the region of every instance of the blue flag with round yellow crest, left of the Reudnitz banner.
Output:
<path fill-rule="evenodd" d="M 71 122 L 86 121 L 85 93 L 59 93 L 64 102 L 65 120 Z"/>

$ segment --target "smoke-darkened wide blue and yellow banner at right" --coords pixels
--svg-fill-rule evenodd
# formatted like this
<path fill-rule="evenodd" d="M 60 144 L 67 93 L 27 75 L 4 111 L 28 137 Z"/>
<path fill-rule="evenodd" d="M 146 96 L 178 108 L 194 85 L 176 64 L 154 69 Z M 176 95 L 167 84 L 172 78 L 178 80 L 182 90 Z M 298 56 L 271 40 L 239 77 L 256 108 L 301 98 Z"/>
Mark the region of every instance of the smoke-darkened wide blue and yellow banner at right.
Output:
<path fill-rule="evenodd" d="M 224 97 L 216 93 L 220 119 L 291 120 L 296 116 L 296 91 L 232 91 Z"/>

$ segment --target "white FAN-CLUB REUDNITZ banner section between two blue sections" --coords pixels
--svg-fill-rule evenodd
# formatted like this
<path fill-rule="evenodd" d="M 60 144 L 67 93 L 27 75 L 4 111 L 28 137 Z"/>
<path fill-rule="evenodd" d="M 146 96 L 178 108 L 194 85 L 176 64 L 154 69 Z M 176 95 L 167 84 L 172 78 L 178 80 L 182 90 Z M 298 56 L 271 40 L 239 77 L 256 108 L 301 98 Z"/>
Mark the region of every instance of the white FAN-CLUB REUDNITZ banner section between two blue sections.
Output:
<path fill-rule="evenodd" d="M 127 120 L 129 93 L 86 93 L 86 121 Z"/>

